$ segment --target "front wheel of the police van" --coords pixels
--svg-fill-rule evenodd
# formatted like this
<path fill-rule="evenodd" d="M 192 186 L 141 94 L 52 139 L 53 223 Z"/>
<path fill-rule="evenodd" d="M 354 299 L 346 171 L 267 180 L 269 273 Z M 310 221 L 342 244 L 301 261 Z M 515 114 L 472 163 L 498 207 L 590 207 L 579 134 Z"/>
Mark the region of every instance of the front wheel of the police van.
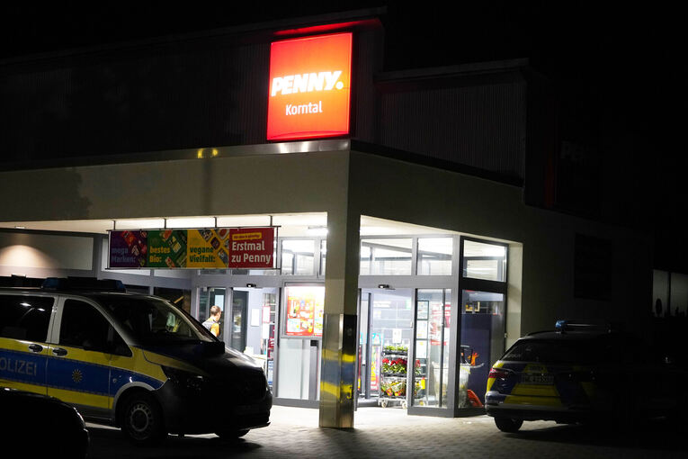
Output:
<path fill-rule="evenodd" d="M 121 430 L 137 446 L 154 446 L 167 436 L 160 405 L 151 395 L 143 392 L 125 401 Z"/>

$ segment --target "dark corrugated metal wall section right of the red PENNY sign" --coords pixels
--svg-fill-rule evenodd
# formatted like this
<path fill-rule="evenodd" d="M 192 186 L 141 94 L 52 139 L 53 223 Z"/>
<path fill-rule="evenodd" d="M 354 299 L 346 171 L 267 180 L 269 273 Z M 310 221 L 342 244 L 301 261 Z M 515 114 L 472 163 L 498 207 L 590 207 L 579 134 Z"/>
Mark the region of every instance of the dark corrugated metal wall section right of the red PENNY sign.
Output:
<path fill-rule="evenodd" d="M 381 143 L 523 178 L 525 83 L 382 94 Z"/>

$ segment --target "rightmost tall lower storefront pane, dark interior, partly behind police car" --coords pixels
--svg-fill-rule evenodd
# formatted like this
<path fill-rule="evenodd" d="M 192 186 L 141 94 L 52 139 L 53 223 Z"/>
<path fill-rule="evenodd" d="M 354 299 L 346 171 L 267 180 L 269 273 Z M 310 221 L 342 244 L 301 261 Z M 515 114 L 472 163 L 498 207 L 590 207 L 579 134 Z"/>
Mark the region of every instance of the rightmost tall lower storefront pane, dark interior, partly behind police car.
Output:
<path fill-rule="evenodd" d="M 479 407 L 487 375 L 504 352 L 505 295 L 464 290 L 461 295 L 461 368 L 458 408 Z"/>

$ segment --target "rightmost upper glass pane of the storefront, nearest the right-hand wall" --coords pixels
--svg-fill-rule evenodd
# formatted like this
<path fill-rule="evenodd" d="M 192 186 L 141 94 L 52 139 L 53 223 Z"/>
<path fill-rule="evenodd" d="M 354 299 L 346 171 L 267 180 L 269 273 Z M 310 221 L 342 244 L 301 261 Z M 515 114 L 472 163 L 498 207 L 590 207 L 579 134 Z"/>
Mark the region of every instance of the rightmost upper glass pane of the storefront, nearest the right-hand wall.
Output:
<path fill-rule="evenodd" d="M 505 282 L 506 247 L 465 240 L 463 245 L 463 276 L 472 279 Z"/>

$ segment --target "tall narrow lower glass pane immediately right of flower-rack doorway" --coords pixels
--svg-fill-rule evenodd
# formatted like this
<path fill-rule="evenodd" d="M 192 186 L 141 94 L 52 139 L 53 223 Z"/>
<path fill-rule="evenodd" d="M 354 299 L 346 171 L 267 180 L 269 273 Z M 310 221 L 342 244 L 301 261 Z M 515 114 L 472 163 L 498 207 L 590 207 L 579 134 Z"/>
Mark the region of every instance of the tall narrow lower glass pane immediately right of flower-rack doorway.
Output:
<path fill-rule="evenodd" d="M 450 373 L 451 291 L 418 290 L 415 313 L 413 404 L 446 408 Z"/>

